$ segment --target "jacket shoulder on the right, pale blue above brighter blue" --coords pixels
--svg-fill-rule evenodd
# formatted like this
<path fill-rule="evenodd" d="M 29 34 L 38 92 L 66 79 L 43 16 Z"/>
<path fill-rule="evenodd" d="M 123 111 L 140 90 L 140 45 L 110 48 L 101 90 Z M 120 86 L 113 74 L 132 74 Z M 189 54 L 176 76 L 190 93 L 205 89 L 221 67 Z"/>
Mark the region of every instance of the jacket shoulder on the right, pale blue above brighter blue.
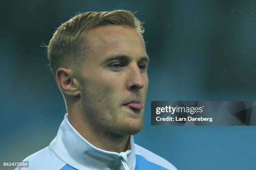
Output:
<path fill-rule="evenodd" d="M 135 144 L 136 154 L 136 170 L 144 169 L 145 166 L 149 169 L 157 170 L 177 170 L 171 163 L 164 158 L 152 153 L 145 148 Z M 141 167 L 141 168 L 140 168 Z"/>

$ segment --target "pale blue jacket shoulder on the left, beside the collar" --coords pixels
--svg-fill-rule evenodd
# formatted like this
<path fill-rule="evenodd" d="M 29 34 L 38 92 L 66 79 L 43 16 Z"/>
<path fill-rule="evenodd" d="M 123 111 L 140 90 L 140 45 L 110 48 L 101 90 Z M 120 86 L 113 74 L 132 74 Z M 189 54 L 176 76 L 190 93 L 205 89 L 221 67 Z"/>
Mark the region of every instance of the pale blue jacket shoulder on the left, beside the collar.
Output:
<path fill-rule="evenodd" d="M 66 165 L 48 146 L 23 161 L 28 161 L 29 168 L 16 168 L 15 170 L 59 170 Z"/>

